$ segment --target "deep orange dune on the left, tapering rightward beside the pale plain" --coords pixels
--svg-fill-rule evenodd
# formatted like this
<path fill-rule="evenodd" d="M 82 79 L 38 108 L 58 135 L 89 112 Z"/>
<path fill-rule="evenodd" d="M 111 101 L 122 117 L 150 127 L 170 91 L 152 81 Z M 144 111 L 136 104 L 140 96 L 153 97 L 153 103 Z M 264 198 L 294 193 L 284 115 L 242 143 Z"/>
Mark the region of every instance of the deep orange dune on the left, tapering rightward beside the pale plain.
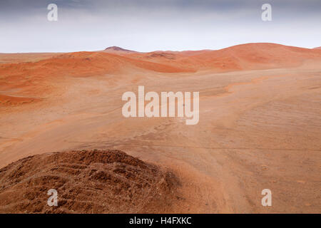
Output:
<path fill-rule="evenodd" d="M 63 53 L 32 63 L 0 64 L 0 90 L 19 88 L 21 94 L 29 95 L 36 88 L 39 94 L 48 93 L 48 84 L 52 86 L 52 83 L 68 76 L 85 77 L 120 74 L 134 71 L 135 69 L 161 73 L 188 72 L 185 68 L 118 56 L 111 53 Z"/>

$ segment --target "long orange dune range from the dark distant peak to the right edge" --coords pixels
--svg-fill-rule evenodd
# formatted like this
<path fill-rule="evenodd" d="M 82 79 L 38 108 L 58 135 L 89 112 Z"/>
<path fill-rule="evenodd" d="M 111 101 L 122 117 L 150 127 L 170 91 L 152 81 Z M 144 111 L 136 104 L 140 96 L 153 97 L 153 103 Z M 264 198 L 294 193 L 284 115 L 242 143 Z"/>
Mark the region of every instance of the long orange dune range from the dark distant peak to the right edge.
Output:
<path fill-rule="evenodd" d="M 276 43 L 246 43 L 217 51 L 154 51 L 127 53 L 127 56 L 194 71 L 221 72 L 300 66 L 304 61 L 320 59 L 321 52 Z"/>

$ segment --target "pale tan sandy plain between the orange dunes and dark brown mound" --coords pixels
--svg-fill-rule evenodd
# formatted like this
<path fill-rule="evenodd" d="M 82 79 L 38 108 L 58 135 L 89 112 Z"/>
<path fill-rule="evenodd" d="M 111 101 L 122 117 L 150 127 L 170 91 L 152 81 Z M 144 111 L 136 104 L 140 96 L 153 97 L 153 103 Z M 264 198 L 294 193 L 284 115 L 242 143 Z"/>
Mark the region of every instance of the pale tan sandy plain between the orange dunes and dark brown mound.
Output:
<path fill-rule="evenodd" d="M 173 212 L 319 211 L 320 68 L 139 73 L 134 83 L 70 78 L 42 103 L 11 107 L 0 117 L 0 167 L 43 152 L 113 148 L 177 173 L 184 200 Z M 123 118 L 121 95 L 141 85 L 200 91 L 200 122 Z M 260 205 L 264 188 L 273 207 Z"/>

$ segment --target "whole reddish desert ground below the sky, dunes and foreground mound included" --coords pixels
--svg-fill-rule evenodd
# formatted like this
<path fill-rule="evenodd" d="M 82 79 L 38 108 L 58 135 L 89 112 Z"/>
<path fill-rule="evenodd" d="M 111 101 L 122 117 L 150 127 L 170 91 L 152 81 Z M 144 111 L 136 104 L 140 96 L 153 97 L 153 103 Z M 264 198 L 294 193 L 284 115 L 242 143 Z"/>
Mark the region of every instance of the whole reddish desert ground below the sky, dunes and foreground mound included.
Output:
<path fill-rule="evenodd" d="M 198 124 L 124 118 L 121 97 L 138 86 L 198 91 Z M 85 157 L 77 164 L 96 168 L 71 159 L 42 173 L 53 154 L 28 157 L 67 152 L 68 160 L 78 156 L 73 150 Z M 97 157 L 96 150 L 116 153 L 108 178 L 97 175 L 107 163 L 95 163 L 108 152 Z M 216 51 L 0 54 L 2 213 L 55 212 L 46 209 L 51 188 L 63 192 L 59 212 L 320 213 L 320 152 L 320 48 L 246 43 Z M 96 156 L 92 162 L 86 153 Z M 115 172 L 117 165 L 123 170 Z M 101 208 L 103 186 L 79 184 L 93 180 L 92 172 L 108 187 L 130 186 L 109 192 Z M 261 204 L 263 189 L 272 191 L 271 207 Z"/>

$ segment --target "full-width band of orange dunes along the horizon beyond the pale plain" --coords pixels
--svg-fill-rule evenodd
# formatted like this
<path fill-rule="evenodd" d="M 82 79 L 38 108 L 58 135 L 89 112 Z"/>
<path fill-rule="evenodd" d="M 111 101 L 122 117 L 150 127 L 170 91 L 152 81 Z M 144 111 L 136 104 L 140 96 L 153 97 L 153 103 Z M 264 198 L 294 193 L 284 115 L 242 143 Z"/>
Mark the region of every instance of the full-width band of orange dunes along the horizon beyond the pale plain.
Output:
<path fill-rule="evenodd" d="M 26 59 L 33 58 L 35 61 L 26 62 Z M 39 60 L 39 58 L 43 59 Z M 0 64 L 0 90 L 19 88 L 21 96 L 29 96 L 34 94 L 34 86 L 37 87 L 39 94 L 49 93 L 49 88 L 45 85 L 66 76 L 118 75 L 137 70 L 156 73 L 247 71 L 300 66 L 305 61 L 316 59 L 321 59 L 321 50 L 318 48 L 297 48 L 275 43 L 246 43 L 217 51 L 140 53 L 111 46 L 104 51 L 41 55 L 0 54 L 0 62 L 2 62 Z M 7 63 L 7 61 L 12 63 Z M 0 101 L 0 105 L 16 103 L 14 101 L 16 98 L 12 99 L 6 98 L 6 102 Z M 34 100 L 36 99 L 38 98 L 35 97 Z"/>

